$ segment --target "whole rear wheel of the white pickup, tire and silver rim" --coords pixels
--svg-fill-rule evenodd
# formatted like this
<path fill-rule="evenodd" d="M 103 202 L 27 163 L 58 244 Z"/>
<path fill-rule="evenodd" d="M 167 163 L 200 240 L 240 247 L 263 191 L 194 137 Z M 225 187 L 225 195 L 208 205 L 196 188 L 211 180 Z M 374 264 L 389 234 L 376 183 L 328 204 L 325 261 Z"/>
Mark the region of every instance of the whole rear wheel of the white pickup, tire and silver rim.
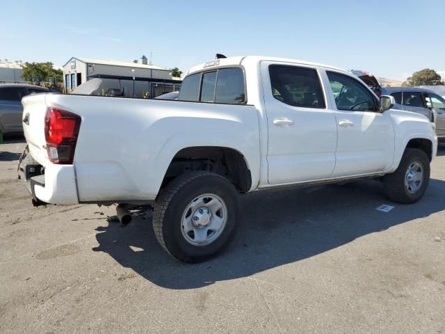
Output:
<path fill-rule="evenodd" d="M 153 214 L 159 244 L 177 260 L 201 262 L 232 240 L 238 193 L 220 175 L 185 173 L 161 191 Z"/>

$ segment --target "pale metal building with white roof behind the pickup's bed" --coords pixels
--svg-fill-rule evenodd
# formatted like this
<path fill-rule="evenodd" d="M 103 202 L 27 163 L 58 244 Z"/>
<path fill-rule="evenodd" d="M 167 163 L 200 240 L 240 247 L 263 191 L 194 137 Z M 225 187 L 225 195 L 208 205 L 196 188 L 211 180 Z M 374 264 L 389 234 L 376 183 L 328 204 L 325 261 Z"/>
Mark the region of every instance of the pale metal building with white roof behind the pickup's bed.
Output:
<path fill-rule="evenodd" d="M 181 86 L 181 78 L 172 77 L 171 71 L 164 67 L 149 64 L 145 56 L 133 62 L 72 57 L 63 65 L 68 93 L 92 78 L 104 79 L 104 95 L 107 90 L 114 90 L 127 97 L 156 97 Z"/>

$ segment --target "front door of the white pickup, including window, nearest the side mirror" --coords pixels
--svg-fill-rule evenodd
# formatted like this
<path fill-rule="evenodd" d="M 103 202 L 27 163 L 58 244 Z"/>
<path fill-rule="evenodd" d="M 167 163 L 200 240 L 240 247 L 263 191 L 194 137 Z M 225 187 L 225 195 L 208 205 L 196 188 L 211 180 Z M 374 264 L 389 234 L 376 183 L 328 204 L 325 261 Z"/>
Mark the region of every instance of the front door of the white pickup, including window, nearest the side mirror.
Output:
<path fill-rule="evenodd" d="M 389 113 L 378 111 L 377 97 L 349 75 L 327 71 L 338 128 L 332 177 L 364 175 L 389 168 L 394 157 L 394 129 Z"/>

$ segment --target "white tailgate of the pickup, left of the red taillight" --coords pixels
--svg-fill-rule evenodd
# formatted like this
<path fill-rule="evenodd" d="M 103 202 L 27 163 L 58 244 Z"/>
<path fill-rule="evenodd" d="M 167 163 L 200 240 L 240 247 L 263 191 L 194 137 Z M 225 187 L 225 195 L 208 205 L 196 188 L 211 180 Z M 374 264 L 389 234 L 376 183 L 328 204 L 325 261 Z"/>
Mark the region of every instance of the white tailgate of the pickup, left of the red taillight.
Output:
<path fill-rule="evenodd" d="M 44 117 L 47 113 L 46 94 L 29 95 L 22 99 L 22 123 L 29 152 L 43 166 L 49 163 L 44 138 Z"/>

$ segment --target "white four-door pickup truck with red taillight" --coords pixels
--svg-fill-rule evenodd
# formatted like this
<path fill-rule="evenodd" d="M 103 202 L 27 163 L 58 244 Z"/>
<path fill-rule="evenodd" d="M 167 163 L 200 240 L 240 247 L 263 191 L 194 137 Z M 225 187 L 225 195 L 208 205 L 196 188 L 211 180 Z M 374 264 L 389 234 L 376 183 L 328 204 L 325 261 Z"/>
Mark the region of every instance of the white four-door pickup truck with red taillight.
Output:
<path fill-rule="evenodd" d="M 379 100 L 338 68 L 283 58 L 193 67 L 178 101 L 40 94 L 22 103 L 20 169 L 35 205 L 118 203 L 120 218 L 153 205 L 157 239 L 185 262 L 229 243 L 239 193 L 380 177 L 388 198 L 412 203 L 437 152 L 434 125 L 391 110 L 394 97 Z"/>

